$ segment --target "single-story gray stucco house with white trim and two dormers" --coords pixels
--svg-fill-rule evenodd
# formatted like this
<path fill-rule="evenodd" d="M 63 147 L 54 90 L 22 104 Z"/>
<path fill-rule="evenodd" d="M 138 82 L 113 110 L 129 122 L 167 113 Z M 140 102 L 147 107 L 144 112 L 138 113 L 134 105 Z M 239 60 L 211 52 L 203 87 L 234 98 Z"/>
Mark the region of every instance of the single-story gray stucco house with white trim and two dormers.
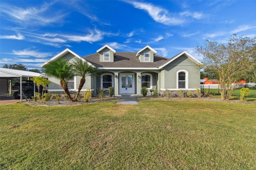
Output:
<path fill-rule="evenodd" d="M 99 76 L 86 77 L 82 91 L 114 87 L 115 96 L 142 95 L 142 86 L 148 90 L 156 86 L 165 91 L 194 91 L 200 88 L 201 62 L 183 51 L 172 58 L 156 55 L 156 50 L 146 46 L 137 52 L 116 52 L 108 45 L 104 45 L 96 53 L 80 57 L 70 49 L 58 53 L 41 66 L 62 57 L 74 61 L 76 57 L 88 62 L 101 70 Z M 59 80 L 49 78 L 49 92 L 63 91 Z M 70 91 L 77 91 L 80 77 L 74 77 L 68 83 Z M 149 94 L 149 93 L 148 93 Z"/>

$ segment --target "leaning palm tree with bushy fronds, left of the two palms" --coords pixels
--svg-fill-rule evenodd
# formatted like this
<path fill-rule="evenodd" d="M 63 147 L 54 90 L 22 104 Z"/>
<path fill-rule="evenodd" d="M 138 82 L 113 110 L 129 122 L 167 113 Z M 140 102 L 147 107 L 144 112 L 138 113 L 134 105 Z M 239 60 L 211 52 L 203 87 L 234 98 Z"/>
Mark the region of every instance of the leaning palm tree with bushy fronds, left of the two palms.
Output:
<path fill-rule="evenodd" d="M 69 63 L 69 60 L 63 60 L 62 58 L 51 61 L 43 66 L 43 72 L 46 73 L 46 75 L 60 79 L 60 86 L 70 101 L 75 101 L 68 90 L 68 80 L 74 78 L 75 75 L 73 66 L 74 65 Z"/>

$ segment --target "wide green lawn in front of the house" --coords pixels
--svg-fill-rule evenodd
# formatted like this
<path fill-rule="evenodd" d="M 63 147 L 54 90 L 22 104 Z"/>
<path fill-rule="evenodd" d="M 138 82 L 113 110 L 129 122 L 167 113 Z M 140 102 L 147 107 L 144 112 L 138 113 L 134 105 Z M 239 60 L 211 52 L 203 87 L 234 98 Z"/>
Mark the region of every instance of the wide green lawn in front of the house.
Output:
<path fill-rule="evenodd" d="M 0 106 L 0 169 L 226 170 L 255 162 L 256 105 Z"/>

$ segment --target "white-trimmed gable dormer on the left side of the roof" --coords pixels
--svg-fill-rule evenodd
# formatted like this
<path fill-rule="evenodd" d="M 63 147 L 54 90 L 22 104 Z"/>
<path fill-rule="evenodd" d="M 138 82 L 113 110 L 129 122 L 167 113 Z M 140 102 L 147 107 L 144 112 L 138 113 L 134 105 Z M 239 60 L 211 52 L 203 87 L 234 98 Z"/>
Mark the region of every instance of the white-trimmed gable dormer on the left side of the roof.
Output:
<path fill-rule="evenodd" d="M 116 50 L 108 45 L 104 45 L 97 50 L 100 55 L 100 62 L 114 62 L 114 57 L 116 57 Z"/>

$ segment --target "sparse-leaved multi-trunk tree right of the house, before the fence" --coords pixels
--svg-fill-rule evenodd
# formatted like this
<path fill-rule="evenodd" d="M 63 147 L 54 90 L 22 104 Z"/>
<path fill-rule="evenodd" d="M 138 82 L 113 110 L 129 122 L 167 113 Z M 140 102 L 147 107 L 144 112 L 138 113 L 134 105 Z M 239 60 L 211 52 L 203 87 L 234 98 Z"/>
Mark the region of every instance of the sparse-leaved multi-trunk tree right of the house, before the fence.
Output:
<path fill-rule="evenodd" d="M 232 35 L 228 43 L 206 40 L 204 46 L 197 46 L 206 67 L 213 67 L 220 81 L 222 99 L 230 99 L 234 91 L 233 83 L 241 79 L 245 70 L 252 67 L 252 56 L 256 53 L 256 38 Z"/>

